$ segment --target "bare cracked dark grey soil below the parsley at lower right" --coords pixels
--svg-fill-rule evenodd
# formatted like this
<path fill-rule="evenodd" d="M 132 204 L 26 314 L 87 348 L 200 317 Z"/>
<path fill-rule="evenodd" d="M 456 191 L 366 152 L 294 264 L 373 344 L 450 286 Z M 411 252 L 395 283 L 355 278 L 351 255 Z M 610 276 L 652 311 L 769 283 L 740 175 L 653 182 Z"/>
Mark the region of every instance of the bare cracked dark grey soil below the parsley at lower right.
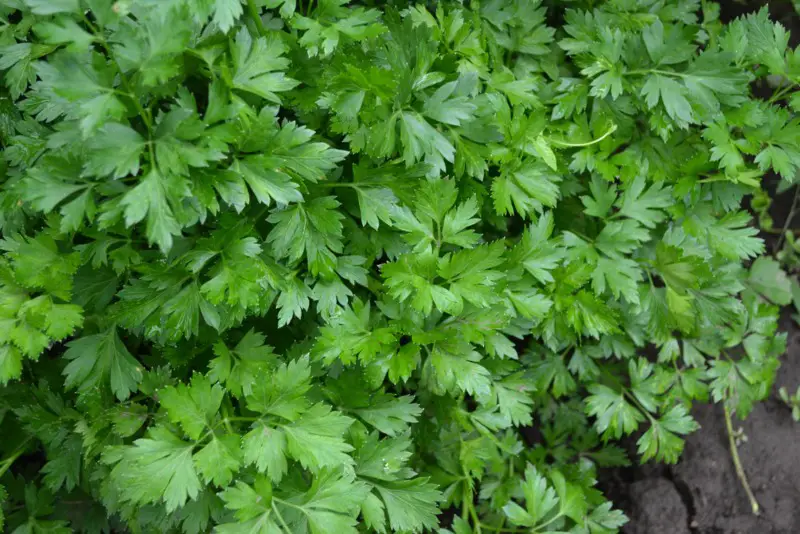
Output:
<path fill-rule="evenodd" d="M 786 320 L 789 349 L 775 384 L 800 384 L 800 329 Z M 722 408 L 697 406 L 701 429 L 686 441 L 674 466 L 641 466 L 613 473 L 609 489 L 631 521 L 629 534 L 794 534 L 800 532 L 800 423 L 773 395 L 745 421 L 739 456 L 761 505 L 756 517 L 736 477 Z"/>

